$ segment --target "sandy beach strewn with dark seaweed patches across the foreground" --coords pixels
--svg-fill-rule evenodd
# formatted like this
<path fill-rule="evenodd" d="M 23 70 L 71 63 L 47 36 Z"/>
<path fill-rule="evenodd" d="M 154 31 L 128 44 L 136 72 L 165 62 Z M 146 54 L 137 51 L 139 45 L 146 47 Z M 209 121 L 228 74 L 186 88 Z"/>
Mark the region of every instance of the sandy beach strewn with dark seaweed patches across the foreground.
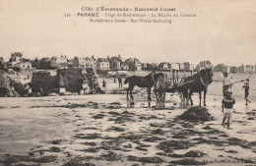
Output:
<path fill-rule="evenodd" d="M 235 97 L 227 130 L 222 95 L 211 86 L 206 108 L 214 120 L 189 122 L 178 118 L 188 108 L 176 93 L 156 109 L 156 98 L 149 107 L 146 89 L 136 88 L 127 107 L 125 87 L 106 82 L 117 94 L 1 98 L 0 165 L 256 164 L 254 96 L 248 106 Z M 198 94 L 193 100 L 198 105 Z"/>

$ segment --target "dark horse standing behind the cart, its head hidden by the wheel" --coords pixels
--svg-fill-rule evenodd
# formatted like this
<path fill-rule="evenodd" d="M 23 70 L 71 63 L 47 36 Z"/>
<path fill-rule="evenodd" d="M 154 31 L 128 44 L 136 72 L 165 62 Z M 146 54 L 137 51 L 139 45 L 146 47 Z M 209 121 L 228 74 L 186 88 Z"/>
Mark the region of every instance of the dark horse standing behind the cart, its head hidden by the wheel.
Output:
<path fill-rule="evenodd" d="M 156 72 L 152 72 L 151 74 L 149 74 L 148 76 L 145 77 L 139 77 L 139 76 L 132 76 L 132 77 L 128 77 L 126 78 L 126 80 L 124 81 L 124 83 L 129 83 L 129 86 L 127 88 L 127 99 L 128 99 L 128 94 L 130 91 L 130 96 L 131 99 L 133 100 L 133 95 L 132 95 L 132 91 L 135 85 L 139 86 L 139 87 L 148 87 L 148 99 L 151 100 L 151 88 L 152 86 L 156 83 L 156 81 L 158 80 L 159 77 L 164 77 L 164 75 L 162 73 L 158 73 L 156 74 Z"/>

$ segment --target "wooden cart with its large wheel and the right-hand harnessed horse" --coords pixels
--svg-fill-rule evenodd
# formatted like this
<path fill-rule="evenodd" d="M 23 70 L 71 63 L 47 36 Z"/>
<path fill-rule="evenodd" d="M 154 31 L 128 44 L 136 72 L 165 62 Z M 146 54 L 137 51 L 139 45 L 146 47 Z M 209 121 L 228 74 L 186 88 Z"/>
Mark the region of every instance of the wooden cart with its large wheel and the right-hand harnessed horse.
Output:
<path fill-rule="evenodd" d="M 193 101 L 191 95 L 193 92 L 199 92 L 199 99 L 201 105 L 202 95 L 201 92 L 204 91 L 204 105 L 206 105 L 206 93 L 207 88 L 210 83 L 213 82 L 213 74 L 212 69 L 204 69 L 199 73 L 184 78 L 182 82 L 171 85 L 170 82 L 164 80 L 163 77 L 159 77 L 154 84 L 154 92 L 157 98 L 157 106 L 162 108 L 164 107 L 165 94 L 166 92 L 174 93 L 175 91 L 179 92 L 181 95 L 181 99 L 183 102 L 191 101 L 191 105 L 193 105 Z"/>

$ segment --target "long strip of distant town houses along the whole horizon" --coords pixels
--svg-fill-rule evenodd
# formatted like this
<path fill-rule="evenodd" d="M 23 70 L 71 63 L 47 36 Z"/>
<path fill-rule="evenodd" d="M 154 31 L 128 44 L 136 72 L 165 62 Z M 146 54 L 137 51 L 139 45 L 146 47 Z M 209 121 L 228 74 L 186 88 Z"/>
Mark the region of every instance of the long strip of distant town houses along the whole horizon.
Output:
<path fill-rule="evenodd" d="M 121 55 L 112 56 L 107 58 L 95 58 L 92 57 L 74 57 L 68 59 L 66 55 L 60 55 L 59 57 L 53 56 L 51 58 L 45 57 L 41 59 L 27 59 L 22 52 L 10 53 L 10 59 L 8 62 L 4 61 L 3 57 L 0 57 L 0 69 L 19 72 L 20 74 L 32 73 L 35 70 L 54 70 L 63 68 L 84 68 L 93 69 L 96 73 L 102 73 L 105 71 L 200 71 L 206 67 L 212 66 L 210 61 L 201 61 L 196 66 L 189 62 L 174 63 L 174 62 L 162 62 L 162 63 L 142 63 L 137 58 L 129 58 L 122 60 Z M 243 65 L 226 66 L 224 64 L 218 64 L 213 67 L 214 72 L 227 72 L 227 73 L 255 73 L 256 65 Z"/>

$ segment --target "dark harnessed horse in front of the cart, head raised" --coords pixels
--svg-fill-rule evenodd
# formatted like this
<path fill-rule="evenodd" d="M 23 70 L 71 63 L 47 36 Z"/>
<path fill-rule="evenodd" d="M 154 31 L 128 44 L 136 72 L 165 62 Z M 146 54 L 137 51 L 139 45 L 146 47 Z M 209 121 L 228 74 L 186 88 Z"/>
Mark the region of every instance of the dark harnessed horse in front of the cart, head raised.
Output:
<path fill-rule="evenodd" d="M 193 92 L 199 92 L 199 105 L 201 106 L 201 99 L 202 94 L 201 92 L 204 91 L 204 106 L 206 106 L 206 93 L 207 88 L 210 83 L 213 83 L 213 73 L 212 69 L 203 69 L 199 73 L 187 77 L 184 79 L 184 85 L 182 85 L 182 93 L 184 99 L 187 99 L 187 103 L 190 100 L 191 105 L 193 105 L 193 101 L 191 95 Z"/>

